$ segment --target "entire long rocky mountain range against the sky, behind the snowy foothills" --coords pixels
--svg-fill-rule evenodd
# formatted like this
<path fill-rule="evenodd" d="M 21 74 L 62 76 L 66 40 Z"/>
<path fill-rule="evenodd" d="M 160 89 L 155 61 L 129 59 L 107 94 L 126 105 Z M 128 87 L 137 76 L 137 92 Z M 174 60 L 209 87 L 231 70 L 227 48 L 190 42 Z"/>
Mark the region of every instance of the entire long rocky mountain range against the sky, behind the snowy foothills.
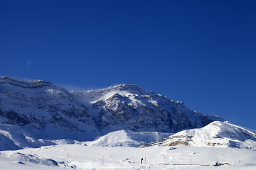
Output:
<path fill-rule="evenodd" d="M 178 132 L 222 118 L 124 84 L 71 91 L 47 81 L 0 78 L 0 123 L 103 135 L 115 130 Z"/>

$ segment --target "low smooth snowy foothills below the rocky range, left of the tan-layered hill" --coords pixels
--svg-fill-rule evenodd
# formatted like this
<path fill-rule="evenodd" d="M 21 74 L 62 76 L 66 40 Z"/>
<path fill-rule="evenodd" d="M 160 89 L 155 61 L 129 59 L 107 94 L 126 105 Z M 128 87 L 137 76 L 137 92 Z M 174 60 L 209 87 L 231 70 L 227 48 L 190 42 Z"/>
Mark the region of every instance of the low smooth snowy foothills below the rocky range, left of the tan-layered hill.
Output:
<path fill-rule="evenodd" d="M 51 130 L 54 131 L 54 128 Z M 58 134 L 58 131 L 55 133 Z M 110 132 L 109 134 L 99 137 L 97 140 L 91 142 L 69 139 L 45 140 L 33 137 L 35 135 L 31 135 L 31 133 L 27 132 L 20 126 L 0 125 L 0 150 L 16 150 L 26 147 L 65 144 L 103 147 L 139 147 L 139 145 L 142 145 L 145 142 L 154 142 L 164 137 L 168 137 L 169 135 L 171 134 L 162 132 L 132 132 L 129 130 L 119 130 L 116 132 Z"/>

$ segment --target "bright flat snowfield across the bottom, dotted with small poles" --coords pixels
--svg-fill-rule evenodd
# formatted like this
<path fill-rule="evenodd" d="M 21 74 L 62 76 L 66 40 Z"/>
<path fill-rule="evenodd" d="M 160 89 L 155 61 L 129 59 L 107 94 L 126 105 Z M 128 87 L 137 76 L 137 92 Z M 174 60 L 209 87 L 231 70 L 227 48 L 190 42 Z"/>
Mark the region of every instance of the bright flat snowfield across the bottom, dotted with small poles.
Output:
<path fill-rule="evenodd" d="M 141 164 L 141 159 L 143 164 Z M 256 152 L 214 147 L 55 145 L 3 151 L 0 169 L 256 169 Z M 228 163 L 213 166 L 215 162 Z M 191 165 L 192 163 L 192 165 Z"/>

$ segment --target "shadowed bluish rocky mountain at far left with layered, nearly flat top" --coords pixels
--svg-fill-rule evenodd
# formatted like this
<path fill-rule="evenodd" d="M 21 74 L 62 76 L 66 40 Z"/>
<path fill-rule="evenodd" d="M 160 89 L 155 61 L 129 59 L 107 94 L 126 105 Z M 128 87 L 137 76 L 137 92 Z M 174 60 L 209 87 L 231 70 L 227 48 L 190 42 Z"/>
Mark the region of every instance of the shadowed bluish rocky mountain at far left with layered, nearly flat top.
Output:
<path fill-rule="evenodd" d="M 41 80 L 0 79 L 0 123 L 95 131 L 88 108 L 65 89 Z"/>

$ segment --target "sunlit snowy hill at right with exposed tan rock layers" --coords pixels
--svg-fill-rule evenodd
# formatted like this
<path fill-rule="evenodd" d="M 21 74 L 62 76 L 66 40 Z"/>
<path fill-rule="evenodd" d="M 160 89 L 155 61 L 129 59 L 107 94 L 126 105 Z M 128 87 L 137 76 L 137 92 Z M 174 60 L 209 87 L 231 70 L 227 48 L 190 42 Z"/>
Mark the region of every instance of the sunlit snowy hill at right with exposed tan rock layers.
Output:
<path fill-rule="evenodd" d="M 256 131 L 228 122 L 212 122 L 203 128 L 183 130 L 141 147 L 186 145 L 194 147 L 237 147 L 256 150 Z"/>

